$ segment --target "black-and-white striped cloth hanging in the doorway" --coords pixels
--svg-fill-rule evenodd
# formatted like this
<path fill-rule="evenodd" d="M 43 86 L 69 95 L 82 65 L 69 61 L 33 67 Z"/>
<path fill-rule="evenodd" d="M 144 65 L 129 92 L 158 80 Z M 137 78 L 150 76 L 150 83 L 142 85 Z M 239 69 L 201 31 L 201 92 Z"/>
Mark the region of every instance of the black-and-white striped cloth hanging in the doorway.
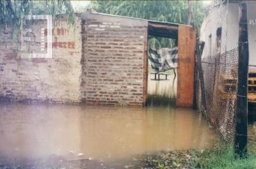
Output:
<path fill-rule="evenodd" d="M 149 48 L 149 60 L 151 67 L 156 72 L 163 72 L 172 68 L 177 68 L 178 48 Z"/>

